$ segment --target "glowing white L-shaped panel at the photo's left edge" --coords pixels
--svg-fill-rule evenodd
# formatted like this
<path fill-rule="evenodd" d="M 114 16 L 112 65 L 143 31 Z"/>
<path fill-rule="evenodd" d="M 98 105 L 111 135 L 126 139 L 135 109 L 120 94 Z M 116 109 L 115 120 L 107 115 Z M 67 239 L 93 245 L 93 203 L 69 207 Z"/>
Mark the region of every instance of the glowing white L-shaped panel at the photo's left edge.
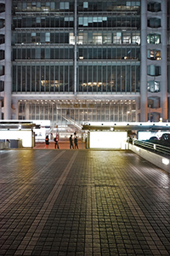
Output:
<path fill-rule="evenodd" d="M 6 131 L 0 131 L 0 139 L 3 140 L 17 140 L 20 139 L 22 140 L 22 146 L 23 147 L 28 147 L 31 148 L 32 146 L 32 132 L 30 131 L 25 131 L 25 130 L 6 130 Z"/>

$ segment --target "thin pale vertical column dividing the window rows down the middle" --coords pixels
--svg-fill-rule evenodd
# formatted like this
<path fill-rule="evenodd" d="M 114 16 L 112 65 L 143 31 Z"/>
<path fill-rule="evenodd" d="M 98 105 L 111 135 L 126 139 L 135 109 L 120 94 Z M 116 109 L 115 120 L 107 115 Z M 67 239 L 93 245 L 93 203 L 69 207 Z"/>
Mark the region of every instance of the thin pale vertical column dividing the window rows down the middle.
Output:
<path fill-rule="evenodd" d="M 77 0 L 75 0 L 75 9 L 74 9 L 74 34 L 75 34 L 75 47 L 74 47 L 74 95 L 77 96 Z"/>

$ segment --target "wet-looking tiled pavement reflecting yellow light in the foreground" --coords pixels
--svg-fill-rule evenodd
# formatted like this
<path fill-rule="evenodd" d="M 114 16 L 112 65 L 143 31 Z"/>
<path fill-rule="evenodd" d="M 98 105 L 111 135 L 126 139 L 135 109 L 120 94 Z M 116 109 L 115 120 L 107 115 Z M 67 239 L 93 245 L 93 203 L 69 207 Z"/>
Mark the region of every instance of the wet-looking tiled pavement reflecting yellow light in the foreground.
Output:
<path fill-rule="evenodd" d="M 0 256 L 170 255 L 170 176 L 130 151 L 0 151 Z"/>

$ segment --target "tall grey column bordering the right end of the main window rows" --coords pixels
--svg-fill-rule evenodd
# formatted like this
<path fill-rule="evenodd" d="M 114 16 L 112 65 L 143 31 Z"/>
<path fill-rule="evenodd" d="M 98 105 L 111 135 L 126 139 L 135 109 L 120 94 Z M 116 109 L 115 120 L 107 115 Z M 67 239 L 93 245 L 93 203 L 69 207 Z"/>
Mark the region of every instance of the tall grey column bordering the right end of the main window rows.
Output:
<path fill-rule="evenodd" d="M 141 1 L 140 121 L 148 119 L 147 97 L 147 0 Z"/>

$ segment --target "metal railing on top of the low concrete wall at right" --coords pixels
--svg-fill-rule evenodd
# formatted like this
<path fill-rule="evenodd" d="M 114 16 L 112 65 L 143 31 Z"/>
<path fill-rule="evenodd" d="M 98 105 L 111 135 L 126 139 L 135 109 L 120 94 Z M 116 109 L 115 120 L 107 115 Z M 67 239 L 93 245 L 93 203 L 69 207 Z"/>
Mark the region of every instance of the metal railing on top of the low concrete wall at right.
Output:
<path fill-rule="evenodd" d="M 148 149 L 156 154 L 167 154 L 170 155 L 170 147 L 166 147 L 156 143 L 148 143 L 144 141 L 133 140 L 133 145 L 140 148 Z"/>

